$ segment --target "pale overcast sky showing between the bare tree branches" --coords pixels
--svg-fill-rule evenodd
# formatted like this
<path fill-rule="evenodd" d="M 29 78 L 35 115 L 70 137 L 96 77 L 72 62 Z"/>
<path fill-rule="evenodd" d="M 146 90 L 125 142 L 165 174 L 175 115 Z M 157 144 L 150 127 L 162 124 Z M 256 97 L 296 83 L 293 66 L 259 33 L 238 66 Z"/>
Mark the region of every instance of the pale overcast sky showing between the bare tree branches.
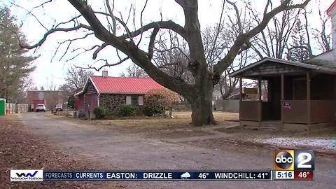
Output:
<path fill-rule="evenodd" d="M 326 10 L 333 0 L 322 0 L 321 9 Z M 32 3 L 34 2 L 34 3 Z M 94 2 L 94 3 L 93 3 Z M 97 3 L 98 2 L 98 3 Z M 141 0 L 123 0 L 116 1 L 116 10 L 122 13 L 128 13 L 130 8 L 130 3 L 135 4 L 137 8 L 137 13 L 140 12 L 142 6 L 144 6 L 145 1 Z M 254 1 L 255 8 L 261 8 L 265 6 L 265 1 L 255 0 Z M 258 2 L 258 4 L 256 4 Z M 27 10 L 31 10 L 32 7 L 41 3 L 41 1 L 29 1 L 29 0 L 17 0 L 16 4 L 27 8 Z M 102 4 L 99 4 L 97 0 L 89 0 L 88 3 L 92 5 L 94 10 L 102 10 Z M 199 17 L 200 24 L 202 28 L 207 26 L 215 25 L 220 17 L 221 13 L 221 0 L 201 0 L 199 1 Z M 3 1 L 2 4 L 8 5 L 8 0 Z M 309 4 L 309 8 L 313 10 L 311 15 L 311 19 L 318 18 L 318 6 L 317 0 L 312 0 Z M 148 6 L 146 7 L 144 14 L 144 24 L 151 21 L 160 20 L 160 9 L 162 10 L 162 18 L 164 20 L 174 20 L 178 22 L 180 25 L 184 25 L 184 16 L 183 10 L 180 6 L 178 6 L 174 0 L 149 0 Z M 56 0 L 51 3 L 46 4 L 43 8 L 38 8 L 33 11 L 34 15 L 40 19 L 45 27 L 50 29 L 52 24 L 54 24 L 55 20 L 57 22 L 62 22 L 69 20 L 71 16 L 76 15 L 76 10 L 71 6 L 71 4 L 65 0 Z M 36 19 L 31 16 L 27 16 L 27 11 L 22 10 L 22 8 L 12 8 L 12 14 L 18 17 L 19 22 L 22 22 L 22 31 L 27 35 L 28 40 L 32 43 L 36 43 L 41 39 L 41 36 L 45 33 L 45 29 L 36 22 Z M 77 12 L 78 14 L 78 12 Z M 124 14 L 125 16 L 125 14 Z M 126 16 L 125 16 L 126 17 Z M 139 18 L 138 18 L 139 19 Z M 316 24 L 316 22 L 310 22 L 311 25 Z M 50 62 L 51 57 L 54 55 L 55 49 L 57 48 L 57 41 L 63 41 L 66 38 L 71 36 L 80 36 L 80 33 L 59 33 L 52 34 L 52 36 L 48 37 L 47 41 L 42 45 L 41 48 L 35 52 L 34 55 L 40 55 L 38 59 L 34 62 L 36 65 L 36 70 L 32 73 L 32 78 L 34 79 L 34 84 L 39 88 L 42 85 L 46 86 L 50 82 L 50 80 L 54 80 L 57 85 L 62 85 L 64 83 L 64 77 L 66 73 L 66 68 L 71 64 L 76 64 L 78 66 L 85 66 L 87 64 L 92 63 L 92 53 L 87 53 L 82 55 L 73 61 L 65 62 L 65 59 L 59 61 L 59 58 L 62 56 L 62 50 L 64 52 L 66 45 L 63 48 L 60 48 L 60 53 Z M 94 43 L 95 42 L 95 43 Z M 90 38 L 90 41 L 83 41 L 74 43 L 73 45 L 76 47 L 90 47 L 92 44 L 99 44 L 94 37 Z M 33 54 L 34 50 L 31 51 Z M 106 50 L 102 51 L 102 56 L 109 57 L 109 61 L 113 63 L 113 61 L 118 62 L 118 59 L 113 58 L 116 57 L 116 50 L 113 48 L 106 48 Z M 71 56 L 68 56 L 68 59 Z M 118 66 L 113 66 L 111 68 L 106 68 L 109 70 L 109 76 L 119 76 L 121 72 L 125 71 L 125 68 L 132 64 L 132 62 L 125 62 Z M 96 72 L 95 74 L 100 75 L 101 71 Z"/>

